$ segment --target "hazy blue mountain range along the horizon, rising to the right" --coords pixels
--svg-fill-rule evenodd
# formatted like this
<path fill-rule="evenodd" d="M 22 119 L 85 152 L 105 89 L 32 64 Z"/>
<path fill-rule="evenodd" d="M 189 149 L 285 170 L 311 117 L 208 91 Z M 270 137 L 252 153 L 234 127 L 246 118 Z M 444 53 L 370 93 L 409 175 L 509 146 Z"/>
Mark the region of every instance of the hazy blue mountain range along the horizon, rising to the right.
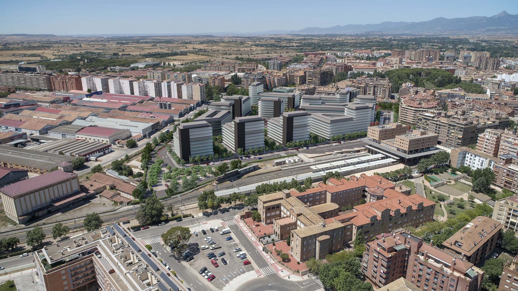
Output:
<path fill-rule="evenodd" d="M 428 21 L 421 22 L 392 22 L 386 21 L 377 24 L 347 24 L 336 25 L 332 27 L 306 27 L 298 31 L 270 30 L 263 32 L 212 32 L 212 33 L 151 33 L 151 34 L 90 34 L 90 35 L 60 35 L 60 36 L 169 36 L 169 35 L 196 35 L 196 36 L 246 36 L 246 35 L 311 35 L 311 34 L 398 34 L 398 35 L 415 35 L 415 34 L 433 34 L 433 35 L 459 35 L 459 34 L 517 34 L 518 33 L 518 14 L 509 14 L 502 11 L 494 16 L 472 16 L 465 18 L 443 18 L 438 17 Z M 53 35 L 0 35 L 1 36 L 40 36 L 50 37 Z"/>

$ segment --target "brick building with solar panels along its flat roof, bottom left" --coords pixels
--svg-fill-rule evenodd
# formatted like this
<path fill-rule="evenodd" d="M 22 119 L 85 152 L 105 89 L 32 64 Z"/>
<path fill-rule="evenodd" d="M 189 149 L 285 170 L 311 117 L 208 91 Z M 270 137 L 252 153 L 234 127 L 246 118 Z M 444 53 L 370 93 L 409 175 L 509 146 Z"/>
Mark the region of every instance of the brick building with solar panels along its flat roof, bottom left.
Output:
<path fill-rule="evenodd" d="M 47 245 L 34 259 L 44 291 L 187 290 L 122 224 Z"/>

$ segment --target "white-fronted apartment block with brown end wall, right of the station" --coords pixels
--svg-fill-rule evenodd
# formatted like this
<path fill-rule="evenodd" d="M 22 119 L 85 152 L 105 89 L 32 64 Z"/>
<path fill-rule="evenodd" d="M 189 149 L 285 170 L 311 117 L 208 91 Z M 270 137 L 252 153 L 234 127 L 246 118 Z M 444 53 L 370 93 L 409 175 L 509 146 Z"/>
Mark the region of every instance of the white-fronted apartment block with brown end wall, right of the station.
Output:
<path fill-rule="evenodd" d="M 460 147 L 451 150 L 451 165 L 455 168 L 468 166 L 471 170 L 490 168 L 498 164 L 499 159 L 479 150 Z"/>

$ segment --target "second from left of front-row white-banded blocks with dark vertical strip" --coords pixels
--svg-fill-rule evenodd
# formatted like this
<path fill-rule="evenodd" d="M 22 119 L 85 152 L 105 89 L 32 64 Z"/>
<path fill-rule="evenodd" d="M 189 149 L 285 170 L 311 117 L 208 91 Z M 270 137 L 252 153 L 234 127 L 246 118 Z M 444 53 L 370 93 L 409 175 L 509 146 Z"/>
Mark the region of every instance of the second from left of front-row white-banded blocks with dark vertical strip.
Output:
<path fill-rule="evenodd" d="M 223 143 L 233 151 L 264 148 L 264 120 L 257 115 L 237 117 L 223 125 Z"/>

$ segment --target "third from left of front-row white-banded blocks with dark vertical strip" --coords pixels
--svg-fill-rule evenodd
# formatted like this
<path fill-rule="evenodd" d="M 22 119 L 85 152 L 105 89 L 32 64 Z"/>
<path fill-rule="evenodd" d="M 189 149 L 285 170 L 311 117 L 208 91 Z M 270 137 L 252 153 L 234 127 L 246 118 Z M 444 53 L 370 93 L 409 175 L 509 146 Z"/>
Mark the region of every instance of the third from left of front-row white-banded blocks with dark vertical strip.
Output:
<path fill-rule="evenodd" d="M 309 140 L 310 116 L 305 111 L 284 112 L 268 120 L 268 137 L 278 143 Z"/>

